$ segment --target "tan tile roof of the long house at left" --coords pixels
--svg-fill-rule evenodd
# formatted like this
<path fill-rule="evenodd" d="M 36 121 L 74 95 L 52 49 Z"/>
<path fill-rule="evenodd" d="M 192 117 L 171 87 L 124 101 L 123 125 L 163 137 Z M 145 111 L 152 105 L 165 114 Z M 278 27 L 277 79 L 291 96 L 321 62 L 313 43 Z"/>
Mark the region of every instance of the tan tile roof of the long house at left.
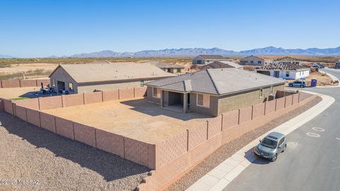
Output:
<path fill-rule="evenodd" d="M 89 83 L 100 81 L 121 81 L 131 79 L 154 79 L 169 76 L 162 69 L 147 63 L 132 62 L 108 62 L 92 64 L 61 64 L 57 66 L 64 69 L 77 83 Z M 54 71 L 52 72 L 54 74 Z M 50 74 L 50 76 L 52 76 Z"/>

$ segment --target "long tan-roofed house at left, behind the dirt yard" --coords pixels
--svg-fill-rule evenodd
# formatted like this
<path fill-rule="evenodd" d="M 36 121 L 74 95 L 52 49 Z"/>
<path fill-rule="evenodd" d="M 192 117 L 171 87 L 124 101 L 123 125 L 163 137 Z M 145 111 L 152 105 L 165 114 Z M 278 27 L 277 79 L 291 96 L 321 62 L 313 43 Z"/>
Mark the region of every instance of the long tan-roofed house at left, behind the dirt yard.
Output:
<path fill-rule="evenodd" d="M 106 91 L 144 86 L 145 82 L 175 76 L 151 64 L 118 62 L 106 64 L 61 64 L 50 74 L 57 92 Z"/>

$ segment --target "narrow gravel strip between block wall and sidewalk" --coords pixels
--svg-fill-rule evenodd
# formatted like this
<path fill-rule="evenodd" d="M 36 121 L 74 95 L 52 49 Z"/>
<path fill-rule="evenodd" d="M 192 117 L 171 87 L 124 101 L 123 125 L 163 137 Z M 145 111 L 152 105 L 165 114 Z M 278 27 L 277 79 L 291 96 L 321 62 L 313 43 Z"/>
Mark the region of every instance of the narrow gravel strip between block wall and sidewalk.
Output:
<path fill-rule="evenodd" d="M 300 108 L 297 108 L 296 110 L 293 110 L 291 112 L 286 113 L 285 115 L 279 117 L 276 120 L 272 120 L 266 125 L 263 125 L 262 127 L 259 127 L 258 129 L 248 132 L 244 134 L 239 139 L 236 139 L 234 141 L 229 142 L 228 144 L 225 144 L 220 147 L 220 149 L 217 149 L 213 154 L 208 156 L 202 163 L 200 163 L 196 168 L 193 168 L 189 173 L 183 176 L 180 180 L 178 180 L 176 183 L 171 185 L 168 190 L 169 191 L 177 191 L 177 190 L 186 190 L 188 187 L 193 185 L 198 179 L 203 177 L 206 173 L 208 173 L 210 170 L 218 166 L 222 161 L 225 161 L 225 159 L 232 156 L 232 154 L 239 151 L 239 149 L 242 149 L 244 146 L 249 144 L 251 141 L 256 139 L 257 137 L 260 137 L 262 134 L 265 134 L 269 130 L 277 127 L 278 125 L 283 124 L 284 122 L 292 119 L 293 117 L 299 115 L 301 112 L 304 112 L 305 110 L 308 110 L 309 108 L 312 108 L 312 106 L 316 105 L 322 100 L 322 98 L 317 97 L 313 100 L 310 100 L 305 105 L 302 105 Z"/>

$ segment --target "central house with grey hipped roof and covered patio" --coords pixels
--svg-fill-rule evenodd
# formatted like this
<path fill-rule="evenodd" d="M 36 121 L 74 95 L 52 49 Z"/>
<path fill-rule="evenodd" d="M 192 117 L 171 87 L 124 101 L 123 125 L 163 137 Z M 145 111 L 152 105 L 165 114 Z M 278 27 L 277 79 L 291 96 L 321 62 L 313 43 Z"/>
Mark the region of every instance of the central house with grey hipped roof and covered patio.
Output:
<path fill-rule="evenodd" d="M 285 81 L 242 69 L 205 69 L 145 83 L 147 100 L 161 107 L 217 116 L 262 103 Z"/>

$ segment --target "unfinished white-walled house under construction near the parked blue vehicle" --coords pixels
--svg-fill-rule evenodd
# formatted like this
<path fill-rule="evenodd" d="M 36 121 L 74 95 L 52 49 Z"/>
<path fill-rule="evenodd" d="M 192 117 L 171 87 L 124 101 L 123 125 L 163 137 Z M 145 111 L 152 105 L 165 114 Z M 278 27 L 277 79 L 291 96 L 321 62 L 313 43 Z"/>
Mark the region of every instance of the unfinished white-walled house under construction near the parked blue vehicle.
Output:
<path fill-rule="evenodd" d="M 310 69 L 291 63 L 268 63 L 255 69 L 257 73 L 266 74 L 281 79 L 301 79 L 310 76 Z"/>

